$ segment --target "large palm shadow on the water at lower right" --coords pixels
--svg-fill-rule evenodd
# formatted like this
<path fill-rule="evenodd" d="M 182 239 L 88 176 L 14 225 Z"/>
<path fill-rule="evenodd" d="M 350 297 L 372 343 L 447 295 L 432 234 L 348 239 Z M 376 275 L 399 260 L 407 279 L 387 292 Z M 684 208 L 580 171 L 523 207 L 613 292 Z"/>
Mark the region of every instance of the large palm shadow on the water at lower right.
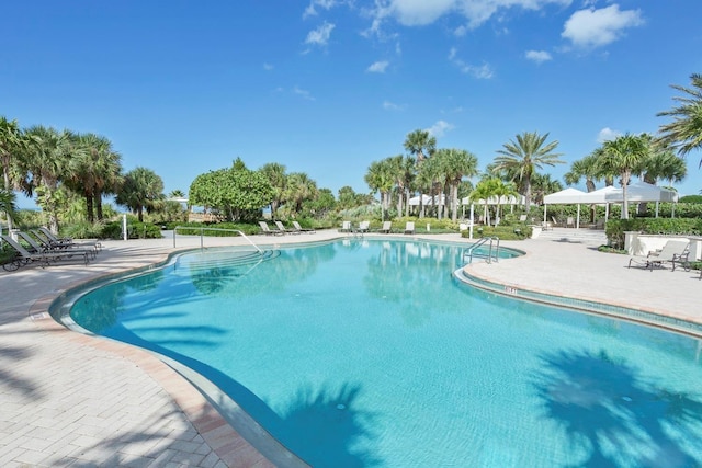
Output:
<path fill-rule="evenodd" d="M 702 465 L 702 395 L 650 383 L 604 351 L 541 356 L 532 383 L 543 414 L 587 454 L 579 467 Z"/>

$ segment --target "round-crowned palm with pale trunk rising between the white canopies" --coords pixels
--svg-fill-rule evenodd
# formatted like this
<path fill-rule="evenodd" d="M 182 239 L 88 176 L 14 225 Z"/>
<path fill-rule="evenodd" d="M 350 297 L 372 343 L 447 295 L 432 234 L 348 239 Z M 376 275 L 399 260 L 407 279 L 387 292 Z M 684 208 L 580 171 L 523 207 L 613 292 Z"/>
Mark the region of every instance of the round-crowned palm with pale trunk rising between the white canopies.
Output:
<path fill-rule="evenodd" d="M 641 167 L 642 160 L 648 156 L 646 139 L 637 135 L 622 135 L 602 145 L 604 163 L 616 170 L 622 182 L 622 219 L 629 219 L 629 199 L 626 186 L 632 173 Z"/>

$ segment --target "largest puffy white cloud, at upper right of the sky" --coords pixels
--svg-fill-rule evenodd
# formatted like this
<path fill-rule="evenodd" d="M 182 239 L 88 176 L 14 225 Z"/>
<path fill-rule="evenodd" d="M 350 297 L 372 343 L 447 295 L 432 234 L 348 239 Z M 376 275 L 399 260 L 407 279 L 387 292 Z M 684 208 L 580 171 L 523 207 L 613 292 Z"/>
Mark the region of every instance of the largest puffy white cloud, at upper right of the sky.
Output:
<path fill-rule="evenodd" d="M 599 10 L 588 9 L 573 13 L 561 36 L 582 48 L 605 46 L 622 37 L 624 30 L 644 24 L 641 10 L 621 11 L 618 4 Z"/>

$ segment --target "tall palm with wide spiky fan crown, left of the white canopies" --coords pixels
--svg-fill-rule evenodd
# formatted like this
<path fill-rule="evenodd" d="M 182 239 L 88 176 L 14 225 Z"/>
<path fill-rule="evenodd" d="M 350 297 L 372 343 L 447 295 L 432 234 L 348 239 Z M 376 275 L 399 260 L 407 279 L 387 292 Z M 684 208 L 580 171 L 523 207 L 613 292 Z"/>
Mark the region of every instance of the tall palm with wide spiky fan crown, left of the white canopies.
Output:
<path fill-rule="evenodd" d="M 495 169 L 513 174 L 512 180 L 522 189 L 526 198 L 526 212 L 531 204 L 531 181 L 536 170 L 544 165 L 564 163 L 558 159 L 562 155 L 553 152 L 558 141 L 546 144 L 547 138 L 548 134 L 525 132 L 517 135 L 517 141 L 510 140 L 502 145 L 503 149 L 498 150 L 499 156 L 495 158 Z"/>

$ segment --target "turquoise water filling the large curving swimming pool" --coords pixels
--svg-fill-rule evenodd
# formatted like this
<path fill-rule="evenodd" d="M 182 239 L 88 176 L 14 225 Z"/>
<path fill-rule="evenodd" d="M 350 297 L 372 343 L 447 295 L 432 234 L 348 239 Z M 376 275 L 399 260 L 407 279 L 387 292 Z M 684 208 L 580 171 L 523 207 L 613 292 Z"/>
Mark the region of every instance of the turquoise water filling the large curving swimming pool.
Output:
<path fill-rule="evenodd" d="M 71 317 L 203 374 L 315 467 L 702 466 L 699 340 L 467 287 L 461 252 L 191 253 Z"/>

